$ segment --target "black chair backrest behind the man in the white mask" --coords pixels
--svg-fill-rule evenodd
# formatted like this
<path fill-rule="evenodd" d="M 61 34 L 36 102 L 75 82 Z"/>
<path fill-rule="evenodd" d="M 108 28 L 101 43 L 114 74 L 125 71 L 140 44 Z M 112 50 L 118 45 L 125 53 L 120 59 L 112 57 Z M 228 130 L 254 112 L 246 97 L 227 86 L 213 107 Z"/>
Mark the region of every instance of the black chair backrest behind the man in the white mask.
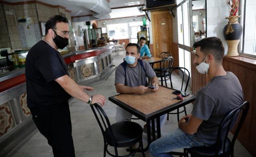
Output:
<path fill-rule="evenodd" d="M 238 122 L 237 128 L 235 129 L 235 134 L 231 141 L 231 150 L 233 151 L 235 145 L 235 139 L 238 137 L 238 133 L 242 127 L 243 122 L 245 121 L 245 117 L 249 111 L 249 102 L 245 101 L 240 106 L 229 111 L 222 121 L 219 124 L 218 134 L 217 134 L 217 142 L 215 148 L 215 156 L 219 154 L 219 150 L 225 152 L 226 141 L 228 138 L 229 131 L 233 128 L 235 122 L 238 119 L 238 115 L 242 112 L 241 118 Z M 222 133 L 225 132 L 224 137 L 222 137 Z M 224 138 L 224 139 L 223 139 Z M 223 148 L 221 148 L 223 146 Z"/>

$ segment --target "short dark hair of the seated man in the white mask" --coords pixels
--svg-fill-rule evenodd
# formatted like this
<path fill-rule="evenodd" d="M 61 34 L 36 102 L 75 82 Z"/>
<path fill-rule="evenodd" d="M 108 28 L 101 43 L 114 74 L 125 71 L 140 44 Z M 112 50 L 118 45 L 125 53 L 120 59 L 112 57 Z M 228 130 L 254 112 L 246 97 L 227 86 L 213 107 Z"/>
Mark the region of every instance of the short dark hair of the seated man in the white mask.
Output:
<path fill-rule="evenodd" d="M 200 46 L 200 51 L 204 55 L 211 54 L 217 62 L 222 62 L 224 56 L 224 46 L 222 41 L 217 37 L 204 38 L 198 42 L 195 42 L 193 47 L 196 49 Z"/>

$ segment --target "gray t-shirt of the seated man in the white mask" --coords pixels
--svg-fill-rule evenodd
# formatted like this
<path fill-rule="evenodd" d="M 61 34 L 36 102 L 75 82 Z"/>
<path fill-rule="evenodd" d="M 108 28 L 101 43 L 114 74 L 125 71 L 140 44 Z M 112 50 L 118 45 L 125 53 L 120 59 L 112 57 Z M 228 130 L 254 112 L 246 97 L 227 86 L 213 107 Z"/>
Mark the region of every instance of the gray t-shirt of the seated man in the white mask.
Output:
<path fill-rule="evenodd" d="M 203 122 L 195 136 L 209 146 L 216 143 L 218 125 L 222 118 L 243 102 L 243 92 L 238 78 L 227 72 L 224 76 L 213 77 L 197 93 L 192 115 Z M 223 133 L 222 133 L 223 134 Z"/>

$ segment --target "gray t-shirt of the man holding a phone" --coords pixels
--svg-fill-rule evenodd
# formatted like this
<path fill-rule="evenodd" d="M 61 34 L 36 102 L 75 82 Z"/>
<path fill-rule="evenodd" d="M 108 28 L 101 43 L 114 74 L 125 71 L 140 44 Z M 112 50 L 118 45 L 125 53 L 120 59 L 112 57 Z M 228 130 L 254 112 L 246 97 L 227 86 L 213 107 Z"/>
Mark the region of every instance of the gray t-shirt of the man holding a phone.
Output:
<path fill-rule="evenodd" d="M 123 69 L 123 66 L 120 64 L 117 66 L 116 72 L 115 72 L 115 84 L 125 84 L 126 86 L 130 87 L 136 87 L 136 86 L 148 86 L 146 81 L 146 76 L 149 77 L 149 79 L 153 78 L 155 76 L 155 72 L 153 71 L 152 67 L 148 62 L 145 60 L 142 60 L 143 66 L 145 68 L 145 71 L 143 70 L 143 67 L 137 62 L 137 66 L 130 67 L 128 64 L 126 65 L 126 78 L 125 78 L 125 71 Z M 146 75 L 145 75 L 146 72 Z M 126 81 L 126 82 L 125 82 Z"/>

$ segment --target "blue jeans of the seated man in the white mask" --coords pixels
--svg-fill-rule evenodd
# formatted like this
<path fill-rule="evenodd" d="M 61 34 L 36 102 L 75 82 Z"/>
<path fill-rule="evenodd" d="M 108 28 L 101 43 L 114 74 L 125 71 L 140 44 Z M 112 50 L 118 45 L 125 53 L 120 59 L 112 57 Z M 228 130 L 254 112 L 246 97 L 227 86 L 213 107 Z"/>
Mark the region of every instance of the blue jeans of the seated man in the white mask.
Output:
<path fill-rule="evenodd" d="M 194 135 L 184 133 L 181 129 L 176 129 L 173 133 L 165 135 L 155 140 L 149 146 L 149 153 L 152 157 L 173 157 L 169 152 L 178 148 L 191 148 L 204 146 Z"/>

